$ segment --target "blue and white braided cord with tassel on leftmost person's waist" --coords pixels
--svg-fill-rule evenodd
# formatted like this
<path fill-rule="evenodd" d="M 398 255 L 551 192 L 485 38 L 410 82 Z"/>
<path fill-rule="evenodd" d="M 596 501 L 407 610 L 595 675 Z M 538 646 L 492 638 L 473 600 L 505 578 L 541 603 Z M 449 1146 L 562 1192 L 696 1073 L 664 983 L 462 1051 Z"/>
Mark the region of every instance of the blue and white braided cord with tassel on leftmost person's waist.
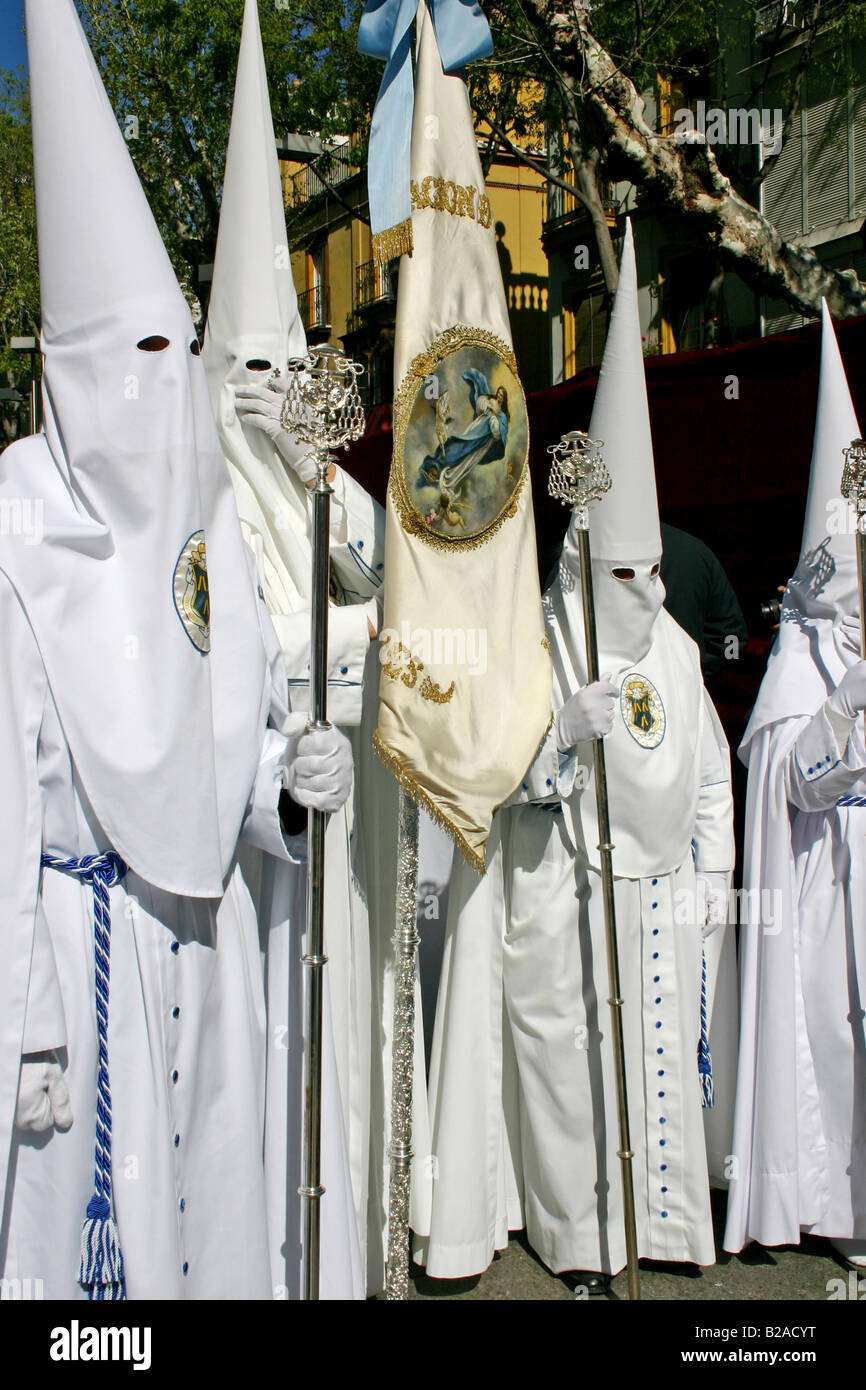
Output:
<path fill-rule="evenodd" d="M 93 959 L 96 986 L 96 1036 L 99 1065 L 96 1074 L 96 1170 L 93 1197 L 81 1233 L 81 1270 L 78 1282 L 96 1301 L 126 1297 L 124 1257 L 117 1223 L 111 1216 L 111 1087 L 108 1083 L 108 979 L 111 966 L 111 903 L 108 888 L 120 883 L 126 865 L 108 851 L 81 859 L 42 856 L 43 867 L 68 873 L 93 890 Z"/>

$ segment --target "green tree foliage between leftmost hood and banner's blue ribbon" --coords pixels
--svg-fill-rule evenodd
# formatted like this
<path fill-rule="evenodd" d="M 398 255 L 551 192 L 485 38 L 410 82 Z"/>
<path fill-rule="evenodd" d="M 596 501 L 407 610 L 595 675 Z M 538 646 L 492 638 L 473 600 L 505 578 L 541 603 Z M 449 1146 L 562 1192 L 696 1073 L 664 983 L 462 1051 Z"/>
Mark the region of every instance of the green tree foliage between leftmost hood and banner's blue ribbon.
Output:
<path fill-rule="evenodd" d="M 129 153 L 186 288 L 213 261 L 243 0 L 76 0 Z M 366 129 L 378 64 L 360 0 L 259 0 L 277 133 Z"/>

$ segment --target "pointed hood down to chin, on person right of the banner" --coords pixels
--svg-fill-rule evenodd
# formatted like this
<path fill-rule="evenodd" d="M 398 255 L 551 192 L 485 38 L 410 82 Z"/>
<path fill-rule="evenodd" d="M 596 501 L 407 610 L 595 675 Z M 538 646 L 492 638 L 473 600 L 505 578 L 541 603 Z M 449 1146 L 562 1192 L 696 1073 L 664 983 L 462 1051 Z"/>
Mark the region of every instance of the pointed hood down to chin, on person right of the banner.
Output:
<path fill-rule="evenodd" d="M 649 430 L 649 404 L 638 317 L 638 277 L 631 222 L 626 222 L 620 278 L 605 343 L 589 435 L 602 441 L 610 491 L 589 510 L 589 543 L 599 638 L 601 670 L 623 670 L 649 651 L 652 628 L 664 602 L 664 587 L 653 569 L 662 556 L 656 470 Z M 580 584 L 574 520 L 569 525 L 562 567 Z M 562 569 L 560 567 L 560 569 Z M 614 569 L 634 570 L 632 580 Z M 574 607 L 582 649 L 580 595 Z"/>

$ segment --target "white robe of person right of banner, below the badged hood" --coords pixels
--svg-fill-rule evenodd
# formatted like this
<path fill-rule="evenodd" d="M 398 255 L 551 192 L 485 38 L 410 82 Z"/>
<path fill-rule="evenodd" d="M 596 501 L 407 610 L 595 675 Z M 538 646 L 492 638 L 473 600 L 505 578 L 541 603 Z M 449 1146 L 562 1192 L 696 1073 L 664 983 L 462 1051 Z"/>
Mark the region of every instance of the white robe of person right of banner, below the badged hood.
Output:
<path fill-rule="evenodd" d="M 695 728 L 696 863 L 728 872 L 730 771 L 714 714 Z M 496 817 L 484 878 L 459 863 L 452 880 L 430 1079 L 432 1219 L 417 1245 L 434 1277 L 478 1273 L 524 1225 L 555 1272 L 626 1261 L 601 878 L 580 812 L 525 801 L 553 796 L 556 780 L 548 741 L 524 803 Z M 639 1254 L 712 1264 L 694 873 L 688 855 L 619 878 L 616 905 Z M 721 938 L 708 951 L 710 1006 L 720 951 Z M 735 1029 L 721 1022 L 713 1042 L 730 1074 Z"/>

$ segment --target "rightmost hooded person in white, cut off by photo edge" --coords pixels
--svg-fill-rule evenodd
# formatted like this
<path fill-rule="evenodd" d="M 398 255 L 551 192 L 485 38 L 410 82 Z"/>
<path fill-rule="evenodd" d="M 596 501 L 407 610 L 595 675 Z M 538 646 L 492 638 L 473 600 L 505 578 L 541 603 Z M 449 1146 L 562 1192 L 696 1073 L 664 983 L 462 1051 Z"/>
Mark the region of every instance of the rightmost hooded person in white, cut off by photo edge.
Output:
<path fill-rule="evenodd" d="M 740 756 L 749 769 L 727 1250 L 866 1243 L 866 748 L 826 701 L 860 660 L 840 498 L 860 434 L 824 306 L 801 557 Z"/>

